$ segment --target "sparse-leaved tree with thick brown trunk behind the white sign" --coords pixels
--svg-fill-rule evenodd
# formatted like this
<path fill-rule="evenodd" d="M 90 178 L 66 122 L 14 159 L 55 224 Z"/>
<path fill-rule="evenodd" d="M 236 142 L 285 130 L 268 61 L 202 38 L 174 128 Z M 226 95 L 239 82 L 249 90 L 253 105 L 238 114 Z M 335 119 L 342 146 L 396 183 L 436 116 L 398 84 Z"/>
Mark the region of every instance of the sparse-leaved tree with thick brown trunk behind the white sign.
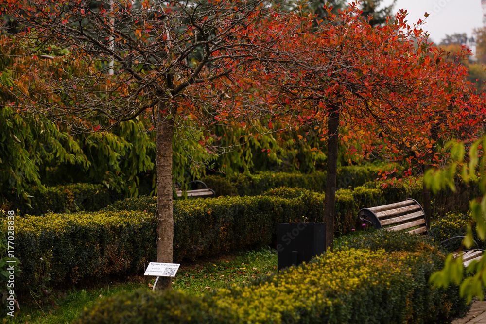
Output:
<path fill-rule="evenodd" d="M 32 60 L 61 50 L 66 62 L 81 60 L 86 66 L 84 75 L 59 68 L 50 76 L 39 73 L 36 64 L 26 66 L 13 77 L 30 83 L 13 90 L 17 98 L 10 104 L 65 123 L 71 134 L 151 119 L 156 131 L 157 261 L 172 262 L 174 132 L 191 136 L 201 127 L 225 124 L 221 116 L 250 123 L 266 117 L 260 100 L 245 107 L 251 115 L 241 114 L 232 101 L 235 92 L 213 84 L 221 80 L 226 85 L 231 75 L 251 73 L 246 65 L 267 55 L 272 63 L 291 61 L 286 53 L 274 52 L 289 40 L 268 38 L 264 27 L 279 19 L 286 32 L 301 33 L 302 19 L 279 8 L 264 0 L 147 0 L 137 6 L 113 0 L 3 1 L 0 11 L 13 19 L 5 31 Z M 239 95 L 253 96 L 248 91 Z M 171 285 L 170 278 L 159 280 L 159 287 Z"/>

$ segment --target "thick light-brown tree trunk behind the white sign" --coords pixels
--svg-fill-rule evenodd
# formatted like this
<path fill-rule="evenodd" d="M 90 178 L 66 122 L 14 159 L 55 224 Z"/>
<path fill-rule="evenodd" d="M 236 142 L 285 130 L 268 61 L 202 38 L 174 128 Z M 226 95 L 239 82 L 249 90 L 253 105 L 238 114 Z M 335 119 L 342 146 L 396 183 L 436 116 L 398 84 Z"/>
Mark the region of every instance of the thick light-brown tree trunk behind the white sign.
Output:
<path fill-rule="evenodd" d="M 172 136 L 174 134 L 173 118 L 167 120 L 159 111 L 156 126 L 158 216 L 157 262 L 165 263 L 172 263 L 172 245 L 174 240 L 174 213 L 172 203 Z M 172 278 L 160 277 L 155 289 L 171 290 Z"/>

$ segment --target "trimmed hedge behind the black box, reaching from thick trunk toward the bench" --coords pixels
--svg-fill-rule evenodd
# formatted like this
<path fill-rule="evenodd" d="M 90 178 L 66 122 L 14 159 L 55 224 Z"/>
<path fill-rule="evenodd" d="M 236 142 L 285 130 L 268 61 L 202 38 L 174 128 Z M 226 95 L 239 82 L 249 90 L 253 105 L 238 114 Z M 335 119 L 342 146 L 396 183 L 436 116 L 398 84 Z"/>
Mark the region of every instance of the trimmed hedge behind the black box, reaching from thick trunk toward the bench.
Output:
<path fill-rule="evenodd" d="M 380 201 L 379 194 L 376 189 L 338 190 L 334 231 L 344 234 L 360 228 L 358 212 L 362 207 L 357 204 Z M 251 243 L 244 245 L 248 247 L 270 244 L 277 235 L 278 223 L 323 222 L 324 198 L 322 193 L 281 187 L 261 196 L 174 201 L 174 258 L 194 259 L 239 249 L 245 238 Z M 147 210 L 155 214 L 156 207 L 156 197 L 142 196 L 116 202 L 104 210 Z M 255 229 L 259 229 L 258 237 Z M 224 242 L 220 236 L 226 237 Z"/>

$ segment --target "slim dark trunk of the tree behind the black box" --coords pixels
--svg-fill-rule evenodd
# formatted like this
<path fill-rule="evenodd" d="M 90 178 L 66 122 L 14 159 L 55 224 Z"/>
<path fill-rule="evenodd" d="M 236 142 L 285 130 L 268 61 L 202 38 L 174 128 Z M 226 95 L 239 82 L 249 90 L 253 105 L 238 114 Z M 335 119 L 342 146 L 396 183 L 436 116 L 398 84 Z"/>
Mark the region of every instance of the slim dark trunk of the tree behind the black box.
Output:
<path fill-rule="evenodd" d="M 326 223 L 326 248 L 331 248 L 334 239 L 334 205 L 336 197 L 337 151 L 339 144 L 339 108 L 328 108 L 328 161 L 326 198 L 324 200 L 324 222 Z"/>

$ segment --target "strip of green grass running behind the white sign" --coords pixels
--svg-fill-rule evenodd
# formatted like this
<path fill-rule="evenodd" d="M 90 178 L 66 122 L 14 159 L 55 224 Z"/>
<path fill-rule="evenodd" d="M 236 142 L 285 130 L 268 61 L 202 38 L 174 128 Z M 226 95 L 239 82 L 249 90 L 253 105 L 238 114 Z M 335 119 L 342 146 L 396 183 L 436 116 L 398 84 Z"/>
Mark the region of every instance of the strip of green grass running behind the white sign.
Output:
<path fill-rule="evenodd" d="M 173 280 L 173 289 L 187 294 L 200 295 L 230 284 L 243 285 L 259 276 L 277 272 L 277 251 L 262 248 L 219 259 L 202 260 L 201 264 L 181 265 Z M 130 277 L 129 282 L 109 282 L 105 287 L 54 292 L 42 303 L 35 298 L 30 304 L 20 305 L 21 311 L 14 318 L 4 318 L 3 323 L 64 324 L 71 323 L 84 307 L 119 293 L 141 287 L 151 287 L 155 278 Z M 42 307 L 41 307 L 42 305 Z"/>

